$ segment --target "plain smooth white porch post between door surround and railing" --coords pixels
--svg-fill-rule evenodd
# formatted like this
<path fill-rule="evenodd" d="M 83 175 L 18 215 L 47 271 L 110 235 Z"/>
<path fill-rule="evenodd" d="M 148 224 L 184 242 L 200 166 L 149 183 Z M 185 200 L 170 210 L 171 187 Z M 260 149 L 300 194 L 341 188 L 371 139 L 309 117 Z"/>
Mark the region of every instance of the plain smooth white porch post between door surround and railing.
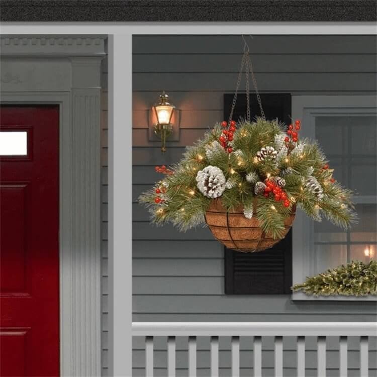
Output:
<path fill-rule="evenodd" d="M 109 35 L 109 375 L 132 375 L 132 35 Z"/>

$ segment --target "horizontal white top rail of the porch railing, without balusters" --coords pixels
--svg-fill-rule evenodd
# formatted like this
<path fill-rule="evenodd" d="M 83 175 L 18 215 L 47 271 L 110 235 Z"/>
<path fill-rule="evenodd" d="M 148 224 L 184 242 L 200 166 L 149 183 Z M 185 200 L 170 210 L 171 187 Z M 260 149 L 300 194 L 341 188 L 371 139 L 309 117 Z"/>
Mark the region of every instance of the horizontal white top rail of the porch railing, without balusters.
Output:
<path fill-rule="evenodd" d="M 377 336 L 376 322 L 133 322 L 133 336 Z"/>

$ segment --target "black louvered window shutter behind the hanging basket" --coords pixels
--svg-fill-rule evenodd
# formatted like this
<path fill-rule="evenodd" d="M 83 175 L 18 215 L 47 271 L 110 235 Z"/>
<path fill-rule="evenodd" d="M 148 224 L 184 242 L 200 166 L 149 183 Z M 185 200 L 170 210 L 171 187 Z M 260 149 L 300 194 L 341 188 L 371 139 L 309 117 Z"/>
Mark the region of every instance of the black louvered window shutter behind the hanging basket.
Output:
<path fill-rule="evenodd" d="M 291 123 L 291 95 L 260 95 L 266 119 Z M 224 119 L 228 120 L 233 94 L 224 95 Z M 252 117 L 260 116 L 255 95 L 250 95 Z M 246 118 L 246 95 L 239 94 L 233 120 Z M 242 253 L 225 248 L 225 294 L 289 294 L 292 286 L 292 230 L 286 238 L 268 250 Z"/>

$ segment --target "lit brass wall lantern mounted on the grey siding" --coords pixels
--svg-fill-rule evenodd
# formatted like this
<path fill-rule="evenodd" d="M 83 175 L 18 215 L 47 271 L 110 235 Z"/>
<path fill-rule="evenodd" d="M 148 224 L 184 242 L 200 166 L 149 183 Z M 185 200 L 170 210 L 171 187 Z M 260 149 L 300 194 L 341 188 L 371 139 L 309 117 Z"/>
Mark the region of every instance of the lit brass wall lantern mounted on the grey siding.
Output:
<path fill-rule="evenodd" d="M 175 106 L 163 91 L 157 104 L 152 107 L 153 132 L 161 139 L 161 152 L 166 152 L 166 139 L 173 133 Z"/>

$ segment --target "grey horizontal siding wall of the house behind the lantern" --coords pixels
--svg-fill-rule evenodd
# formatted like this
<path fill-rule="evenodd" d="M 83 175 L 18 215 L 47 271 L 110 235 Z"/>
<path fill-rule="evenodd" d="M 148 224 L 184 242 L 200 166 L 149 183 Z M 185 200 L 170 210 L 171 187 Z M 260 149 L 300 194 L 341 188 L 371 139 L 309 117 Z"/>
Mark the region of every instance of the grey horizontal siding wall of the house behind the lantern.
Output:
<path fill-rule="evenodd" d="M 292 95 L 374 95 L 375 44 L 375 36 L 255 36 L 249 40 L 259 90 L 290 92 Z M 374 321 L 376 305 L 373 302 L 293 302 L 290 295 L 226 296 L 224 249 L 211 233 L 202 228 L 179 233 L 171 226 L 152 226 L 148 223 L 148 212 L 136 203 L 139 194 L 160 178 L 154 171 L 155 165 L 176 162 L 185 145 L 192 144 L 208 127 L 222 120 L 223 95 L 235 88 L 242 48 L 239 36 L 156 35 L 133 38 L 132 135 L 130 132 L 133 140 L 133 320 Z M 102 78 L 102 345 L 103 372 L 106 374 L 106 60 L 102 65 Z M 148 140 L 148 111 L 161 90 L 167 91 L 172 102 L 181 110 L 180 139 L 168 143 L 164 155 L 160 152 L 158 142 Z M 220 349 L 224 352 L 224 358 L 220 359 L 230 362 L 228 343 L 220 343 Z M 295 349 L 291 343 L 285 344 L 285 352 Z M 336 345 L 331 344 L 328 346 L 338 352 Z M 358 362 L 358 343 L 355 341 L 352 344 L 350 349 L 354 353 L 350 357 L 354 357 L 355 361 L 349 364 L 350 375 L 353 375 L 352 363 Z M 179 361 L 185 357 L 185 346 L 184 340 L 178 340 L 179 375 L 186 372 L 183 361 Z M 134 373 L 143 375 L 141 367 L 144 351 L 141 339 L 134 340 L 134 348 Z M 269 375 L 268 360 L 272 360 L 273 367 L 273 358 L 267 355 L 272 352 L 272 343 L 267 342 L 265 348 L 265 373 Z M 158 375 L 164 375 L 166 345 L 157 341 L 156 349 L 157 372 Z M 206 364 L 209 339 L 201 341 L 199 349 L 203 352 L 200 356 L 202 361 L 198 361 L 200 373 L 205 375 L 209 365 Z M 307 344 L 309 353 L 315 349 L 314 343 Z M 370 356 L 373 355 L 374 359 L 370 365 L 373 375 L 377 368 L 375 350 L 373 341 L 370 344 L 370 351 L 373 352 Z M 315 361 L 315 357 L 311 358 L 309 353 L 308 359 Z M 228 361 L 224 361 L 224 375 L 227 375 Z M 312 361 L 308 361 L 309 366 L 314 364 Z M 251 367 L 247 362 L 246 359 L 242 362 L 241 356 L 245 373 Z M 286 375 L 291 375 L 292 363 L 294 357 L 285 365 Z M 330 363 L 328 367 L 328 375 L 333 375 L 332 370 L 337 375 L 335 364 Z M 312 369 L 315 373 L 315 365 L 308 369 L 308 375 L 312 375 Z"/>

